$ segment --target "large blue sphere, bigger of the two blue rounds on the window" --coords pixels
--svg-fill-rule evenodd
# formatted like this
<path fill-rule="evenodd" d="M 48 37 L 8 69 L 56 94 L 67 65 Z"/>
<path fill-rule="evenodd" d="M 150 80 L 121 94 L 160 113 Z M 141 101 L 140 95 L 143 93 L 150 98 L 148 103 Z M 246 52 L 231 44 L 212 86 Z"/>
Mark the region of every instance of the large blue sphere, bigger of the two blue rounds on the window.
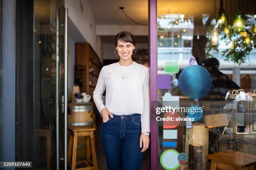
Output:
<path fill-rule="evenodd" d="M 204 97 L 212 87 L 210 72 L 200 65 L 191 65 L 182 70 L 178 82 L 181 92 L 192 99 Z"/>

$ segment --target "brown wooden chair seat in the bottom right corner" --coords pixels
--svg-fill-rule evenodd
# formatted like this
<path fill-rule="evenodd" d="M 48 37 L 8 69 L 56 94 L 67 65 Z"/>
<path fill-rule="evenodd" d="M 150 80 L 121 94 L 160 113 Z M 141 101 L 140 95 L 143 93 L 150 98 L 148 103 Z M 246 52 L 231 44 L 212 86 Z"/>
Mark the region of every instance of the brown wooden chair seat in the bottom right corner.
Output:
<path fill-rule="evenodd" d="M 210 170 L 255 170 L 256 156 L 235 150 L 225 150 L 207 156 L 211 162 Z"/>

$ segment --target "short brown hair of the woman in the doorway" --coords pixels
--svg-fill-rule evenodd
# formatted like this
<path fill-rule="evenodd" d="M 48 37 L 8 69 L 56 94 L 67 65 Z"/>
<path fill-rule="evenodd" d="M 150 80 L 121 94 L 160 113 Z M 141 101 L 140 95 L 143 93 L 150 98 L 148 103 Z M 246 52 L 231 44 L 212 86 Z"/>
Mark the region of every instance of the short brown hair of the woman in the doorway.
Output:
<path fill-rule="evenodd" d="M 128 32 L 128 31 L 119 32 L 115 36 L 115 47 L 117 47 L 118 40 L 120 40 L 122 42 L 130 42 L 130 43 L 132 43 L 135 46 L 134 50 L 136 50 L 136 51 L 133 50 L 133 54 L 135 53 L 135 55 L 132 55 L 132 56 L 136 56 L 137 55 L 137 52 L 138 52 L 137 44 L 136 44 L 135 38 L 134 38 L 134 36 L 132 35 L 131 32 Z"/>

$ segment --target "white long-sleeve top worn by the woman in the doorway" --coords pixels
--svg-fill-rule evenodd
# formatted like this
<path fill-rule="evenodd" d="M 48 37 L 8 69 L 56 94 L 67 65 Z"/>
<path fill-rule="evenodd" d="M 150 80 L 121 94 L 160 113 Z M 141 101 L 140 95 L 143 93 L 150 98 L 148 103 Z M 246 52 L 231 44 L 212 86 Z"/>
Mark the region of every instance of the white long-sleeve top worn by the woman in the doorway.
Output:
<path fill-rule="evenodd" d="M 106 107 L 110 112 L 141 114 L 141 132 L 150 132 L 148 68 L 137 62 L 133 62 L 129 67 L 127 72 L 123 73 L 119 62 L 102 67 L 93 92 L 93 100 L 99 112 Z M 102 93 L 105 90 L 104 105 Z"/>

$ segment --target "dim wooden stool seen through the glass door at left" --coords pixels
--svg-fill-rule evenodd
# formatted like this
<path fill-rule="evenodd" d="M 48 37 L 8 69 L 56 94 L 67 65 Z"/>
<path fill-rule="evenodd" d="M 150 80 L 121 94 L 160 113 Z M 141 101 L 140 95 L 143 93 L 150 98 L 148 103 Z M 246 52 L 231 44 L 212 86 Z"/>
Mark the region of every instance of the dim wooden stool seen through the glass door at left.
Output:
<path fill-rule="evenodd" d="M 46 162 L 47 162 L 47 170 L 51 170 L 51 133 L 50 130 L 36 129 L 36 144 L 38 137 L 46 138 Z"/>

